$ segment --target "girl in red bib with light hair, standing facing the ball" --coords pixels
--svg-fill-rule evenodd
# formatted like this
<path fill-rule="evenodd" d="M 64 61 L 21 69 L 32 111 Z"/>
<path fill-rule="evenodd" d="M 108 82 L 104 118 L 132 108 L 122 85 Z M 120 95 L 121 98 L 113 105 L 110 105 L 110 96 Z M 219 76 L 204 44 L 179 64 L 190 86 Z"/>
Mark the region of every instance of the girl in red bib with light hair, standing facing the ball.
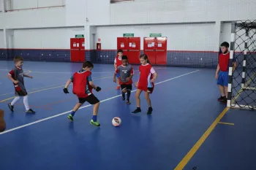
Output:
<path fill-rule="evenodd" d="M 148 103 L 148 115 L 151 115 L 153 109 L 151 107 L 151 100 L 149 98 L 149 94 L 153 93 L 154 90 L 154 81 L 157 79 L 157 72 L 153 69 L 148 60 L 148 56 L 146 54 L 140 55 L 140 78 L 135 86 L 138 88 L 135 94 L 137 109 L 132 113 L 141 112 L 140 109 L 140 93 L 145 91 L 146 101 Z M 153 77 L 154 76 L 154 77 Z"/>

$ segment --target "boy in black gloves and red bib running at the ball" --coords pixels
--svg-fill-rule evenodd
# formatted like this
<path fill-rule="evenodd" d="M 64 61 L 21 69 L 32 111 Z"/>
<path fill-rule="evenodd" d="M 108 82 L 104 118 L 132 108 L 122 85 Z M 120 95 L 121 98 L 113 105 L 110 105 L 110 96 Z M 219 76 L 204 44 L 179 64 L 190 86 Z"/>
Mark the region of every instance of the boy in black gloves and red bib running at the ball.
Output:
<path fill-rule="evenodd" d="M 94 85 L 94 82 L 91 80 L 91 69 L 93 68 L 94 65 L 90 61 L 83 63 L 83 69 L 75 72 L 75 74 L 67 80 L 63 91 L 64 93 L 69 93 L 67 88 L 69 87 L 70 82 L 73 82 L 73 93 L 78 96 L 79 100 L 79 102 L 75 104 L 74 109 L 72 109 L 71 114 L 68 115 L 69 120 L 73 120 L 75 112 L 87 101 L 89 104 L 94 104 L 93 116 L 90 123 L 91 125 L 99 126 L 100 124 L 97 121 L 99 99 L 92 93 L 92 88 L 97 90 L 97 92 L 99 92 L 101 88 Z"/>

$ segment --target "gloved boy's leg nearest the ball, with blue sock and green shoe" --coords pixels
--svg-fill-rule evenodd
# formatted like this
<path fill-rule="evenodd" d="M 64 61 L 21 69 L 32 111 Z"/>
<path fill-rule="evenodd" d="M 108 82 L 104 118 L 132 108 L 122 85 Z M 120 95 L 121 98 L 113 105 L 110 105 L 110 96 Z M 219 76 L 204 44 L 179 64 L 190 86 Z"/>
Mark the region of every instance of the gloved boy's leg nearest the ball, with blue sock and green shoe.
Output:
<path fill-rule="evenodd" d="M 98 110 L 99 110 L 99 99 L 94 96 L 94 94 L 91 94 L 90 96 L 86 97 L 86 101 L 89 102 L 89 104 L 94 105 L 93 113 L 92 113 L 92 118 L 91 118 L 91 125 L 96 125 L 99 126 L 99 122 L 97 121 L 97 115 L 98 115 Z"/>

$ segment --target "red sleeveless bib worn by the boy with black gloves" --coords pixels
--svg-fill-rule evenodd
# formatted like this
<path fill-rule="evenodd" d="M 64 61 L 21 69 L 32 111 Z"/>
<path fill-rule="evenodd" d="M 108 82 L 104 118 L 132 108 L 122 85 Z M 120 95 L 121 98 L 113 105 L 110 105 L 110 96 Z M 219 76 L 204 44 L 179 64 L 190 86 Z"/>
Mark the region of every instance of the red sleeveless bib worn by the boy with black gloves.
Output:
<path fill-rule="evenodd" d="M 87 77 L 91 75 L 90 71 L 80 70 L 75 72 L 73 75 L 73 93 L 78 96 L 78 98 L 86 98 L 92 93 L 92 88 L 87 82 Z"/>

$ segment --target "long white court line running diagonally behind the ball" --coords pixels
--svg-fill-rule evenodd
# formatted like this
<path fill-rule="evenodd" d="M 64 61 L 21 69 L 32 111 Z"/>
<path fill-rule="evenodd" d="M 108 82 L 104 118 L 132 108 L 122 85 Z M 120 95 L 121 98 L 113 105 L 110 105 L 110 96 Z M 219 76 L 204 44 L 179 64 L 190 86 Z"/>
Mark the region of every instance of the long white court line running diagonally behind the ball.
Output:
<path fill-rule="evenodd" d="M 177 78 L 179 78 L 179 77 L 183 77 L 183 76 L 186 76 L 186 75 L 188 75 L 188 74 L 192 74 L 192 73 L 195 73 L 195 72 L 198 72 L 198 71 L 199 71 L 199 70 L 195 70 L 195 71 L 193 71 L 193 72 L 189 72 L 189 73 L 187 73 L 187 74 L 182 74 L 182 75 L 180 75 L 180 76 L 173 77 L 173 78 L 171 78 L 171 79 L 164 80 L 164 81 L 162 81 L 162 82 L 157 82 L 157 83 L 155 83 L 155 85 L 159 85 L 159 84 L 161 84 L 161 83 L 163 83 L 163 82 L 168 82 L 168 81 L 170 81 L 170 80 L 174 80 L 174 79 L 177 79 Z M 135 92 L 135 91 L 136 91 L 136 90 L 132 90 L 131 93 L 132 93 L 132 92 Z M 117 95 L 117 96 L 113 96 L 113 97 L 110 97 L 110 98 L 106 98 L 106 99 L 104 99 L 104 100 L 102 100 L 102 101 L 100 101 L 100 102 L 102 103 L 102 102 L 105 102 L 105 101 L 110 101 L 110 100 L 112 100 L 113 98 L 118 98 L 119 96 L 121 96 L 121 95 Z M 79 109 L 83 109 L 83 108 L 90 107 L 90 106 L 91 106 L 91 104 L 86 105 L 86 106 L 84 106 L 84 107 L 80 107 Z M 16 127 L 16 128 L 11 128 L 11 129 L 9 129 L 9 130 L 7 130 L 7 131 L 1 132 L 0 134 L 7 134 L 7 133 L 9 133 L 9 132 L 11 132 L 11 131 L 15 131 L 15 130 L 18 130 L 18 129 L 20 129 L 20 128 L 25 128 L 26 126 L 29 126 L 29 125 L 34 125 L 34 124 L 36 124 L 36 123 L 40 123 L 40 122 L 42 122 L 42 121 L 49 120 L 49 119 L 52 119 L 52 118 L 54 118 L 54 117 L 59 117 L 59 116 L 61 116 L 61 115 L 66 115 L 67 113 L 69 113 L 69 112 L 71 112 L 71 111 L 72 111 L 72 110 L 69 110 L 69 111 L 67 111 L 67 112 L 62 112 L 62 113 L 60 113 L 60 114 L 58 114 L 58 115 L 46 117 L 45 119 L 37 120 L 37 121 L 34 121 L 34 122 L 32 122 L 32 123 L 28 123 L 28 124 L 26 124 L 26 125 L 20 125 L 20 126 L 18 126 L 18 127 Z"/>

